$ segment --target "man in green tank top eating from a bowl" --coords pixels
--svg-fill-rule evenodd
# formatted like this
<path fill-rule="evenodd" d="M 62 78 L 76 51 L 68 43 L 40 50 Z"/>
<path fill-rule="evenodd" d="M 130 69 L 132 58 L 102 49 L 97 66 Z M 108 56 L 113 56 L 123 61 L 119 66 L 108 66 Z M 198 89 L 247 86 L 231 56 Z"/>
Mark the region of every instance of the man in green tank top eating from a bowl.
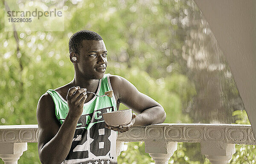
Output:
<path fill-rule="evenodd" d="M 75 75 L 68 84 L 47 90 L 38 101 L 38 153 L 43 164 L 116 164 L 117 132 L 162 123 L 163 107 L 121 76 L 105 74 L 107 49 L 99 34 L 82 30 L 70 37 Z M 113 90 L 112 97 L 97 97 Z M 123 103 L 137 115 L 123 126 L 106 126 L 102 113 Z M 101 164 L 100 163 L 100 164 Z"/>

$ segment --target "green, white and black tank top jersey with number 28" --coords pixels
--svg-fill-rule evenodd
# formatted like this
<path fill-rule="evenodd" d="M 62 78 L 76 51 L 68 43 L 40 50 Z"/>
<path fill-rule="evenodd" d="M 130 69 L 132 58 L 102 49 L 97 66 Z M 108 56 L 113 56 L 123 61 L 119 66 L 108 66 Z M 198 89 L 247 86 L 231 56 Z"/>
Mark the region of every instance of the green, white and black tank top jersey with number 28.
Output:
<path fill-rule="evenodd" d="M 104 95 L 112 90 L 110 74 L 99 80 L 97 95 Z M 55 104 L 55 115 L 63 124 L 69 111 L 67 101 L 55 90 L 47 90 Z M 90 93 L 88 93 L 90 94 Z M 102 113 L 116 111 L 116 99 L 113 96 L 94 96 L 84 104 L 84 110 L 76 126 L 70 152 L 62 164 L 117 164 L 117 132 L 105 128 Z M 67 134 L 69 135 L 69 134 Z"/>

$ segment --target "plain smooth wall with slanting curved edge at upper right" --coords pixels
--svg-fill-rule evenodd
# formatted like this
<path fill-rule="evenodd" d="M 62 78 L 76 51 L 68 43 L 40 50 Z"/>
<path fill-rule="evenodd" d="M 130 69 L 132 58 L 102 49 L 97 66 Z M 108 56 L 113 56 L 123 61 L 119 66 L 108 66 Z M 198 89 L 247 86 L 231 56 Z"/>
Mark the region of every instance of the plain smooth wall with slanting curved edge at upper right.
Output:
<path fill-rule="evenodd" d="M 256 136 L 256 0 L 195 0 L 234 76 Z"/>

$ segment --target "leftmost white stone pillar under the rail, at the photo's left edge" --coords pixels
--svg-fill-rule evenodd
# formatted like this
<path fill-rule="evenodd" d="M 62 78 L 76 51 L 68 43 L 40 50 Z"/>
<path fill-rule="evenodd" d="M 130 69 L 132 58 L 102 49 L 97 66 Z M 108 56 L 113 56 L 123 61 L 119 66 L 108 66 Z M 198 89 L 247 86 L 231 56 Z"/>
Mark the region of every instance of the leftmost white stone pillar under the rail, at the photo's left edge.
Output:
<path fill-rule="evenodd" d="M 18 159 L 27 150 L 27 143 L 0 143 L 0 158 L 5 164 L 17 164 Z"/>

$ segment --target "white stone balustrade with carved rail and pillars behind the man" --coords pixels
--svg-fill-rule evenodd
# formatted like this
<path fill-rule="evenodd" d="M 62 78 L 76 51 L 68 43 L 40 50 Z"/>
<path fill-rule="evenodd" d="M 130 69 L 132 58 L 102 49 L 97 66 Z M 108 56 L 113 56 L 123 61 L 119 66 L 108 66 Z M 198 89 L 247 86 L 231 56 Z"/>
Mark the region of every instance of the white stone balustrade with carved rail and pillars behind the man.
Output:
<path fill-rule="evenodd" d="M 27 150 L 27 142 L 38 141 L 38 125 L 0 126 L 0 158 L 5 164 L 17 164 Z M 236 152 L 235 144 L 256 145 L 252 127 L 244 124 L 153 124 L 132 127 L 118 133 L 117 150 L 123 150 L 123 142 L 145 142 L 145 153 L 156 164 L 168 164 L 177 150 L 177 142 L 199 142 L 201 153 L 212 164 L 227 164 Z"/>

